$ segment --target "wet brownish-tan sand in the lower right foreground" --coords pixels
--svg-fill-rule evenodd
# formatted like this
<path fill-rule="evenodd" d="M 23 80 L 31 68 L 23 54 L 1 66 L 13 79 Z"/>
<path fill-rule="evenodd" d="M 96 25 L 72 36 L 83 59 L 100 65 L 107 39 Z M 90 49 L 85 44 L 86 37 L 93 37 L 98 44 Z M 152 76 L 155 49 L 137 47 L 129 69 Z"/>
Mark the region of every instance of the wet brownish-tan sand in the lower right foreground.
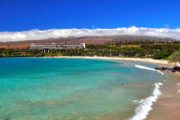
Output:
<path fill-rule="evenodd" d="M 162 95 L 147 120 L 180 120 L 180 73 L 167 74 L 169 77 L 161 88 Z"/>

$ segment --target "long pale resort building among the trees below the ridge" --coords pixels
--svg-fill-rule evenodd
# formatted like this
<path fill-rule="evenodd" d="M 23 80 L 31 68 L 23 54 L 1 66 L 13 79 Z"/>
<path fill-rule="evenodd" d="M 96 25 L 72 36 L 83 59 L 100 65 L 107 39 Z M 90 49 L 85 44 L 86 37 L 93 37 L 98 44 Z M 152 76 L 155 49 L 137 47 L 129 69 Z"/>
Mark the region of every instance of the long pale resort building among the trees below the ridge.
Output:
<path fill-rule="evenodd" d="M 81 43 L 81 44 L 56 44 L 56 43 L 51 43 L 51 44 L 35 44 L 32 43 L 29 46 L 30 50 L 42 50 L 44 52 L 49 52 L 50 50 L 70 50 L 70 49 L 85 49 L 86 44 Z"/>

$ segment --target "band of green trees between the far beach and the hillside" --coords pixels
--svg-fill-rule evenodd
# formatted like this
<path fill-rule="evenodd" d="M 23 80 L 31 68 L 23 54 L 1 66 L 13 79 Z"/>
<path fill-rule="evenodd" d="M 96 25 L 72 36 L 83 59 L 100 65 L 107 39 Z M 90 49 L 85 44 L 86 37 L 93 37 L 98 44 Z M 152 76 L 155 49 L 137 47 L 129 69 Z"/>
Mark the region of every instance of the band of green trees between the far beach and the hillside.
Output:
<path fill-rule="evenodd" d="M 111 43 L 104 45 L 87 45 L 86 49 L 73 49 L 49 53 L 34 50 L 0 49 L 0 57 L 42 57 L 42 56 L 120 56 L 120 57 L 141 57 L 154 59 L 169 59 L 172 55 L 178 55 L 180 42 L 132 42 L 132 43 Z"/>

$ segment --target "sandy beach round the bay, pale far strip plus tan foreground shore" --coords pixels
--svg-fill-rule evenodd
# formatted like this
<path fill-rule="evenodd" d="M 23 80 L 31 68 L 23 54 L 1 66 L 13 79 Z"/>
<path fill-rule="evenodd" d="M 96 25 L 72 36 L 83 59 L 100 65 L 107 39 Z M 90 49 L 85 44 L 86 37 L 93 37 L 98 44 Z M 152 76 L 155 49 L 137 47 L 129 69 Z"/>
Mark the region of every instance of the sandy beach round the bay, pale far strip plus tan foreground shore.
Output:
<path fill-rule="evenodd" d="M 53 58 L 77 58 L 77 59 L 101 59 L 101 60 L 123 60 L 154 63 L 160 66 L 173 66 L 167 60 L 154 60 L 150 58 L 120 58 L 120 57 L 81 57 L 81 56 L 58 56 Z M 179 65 L 179 64 L 178 64 Z M 180 119 L 180 73 L 168 74 L 167 80 L 161 87 L 162 95 L 153 105 L 147 120 L 179 120 Z"/>

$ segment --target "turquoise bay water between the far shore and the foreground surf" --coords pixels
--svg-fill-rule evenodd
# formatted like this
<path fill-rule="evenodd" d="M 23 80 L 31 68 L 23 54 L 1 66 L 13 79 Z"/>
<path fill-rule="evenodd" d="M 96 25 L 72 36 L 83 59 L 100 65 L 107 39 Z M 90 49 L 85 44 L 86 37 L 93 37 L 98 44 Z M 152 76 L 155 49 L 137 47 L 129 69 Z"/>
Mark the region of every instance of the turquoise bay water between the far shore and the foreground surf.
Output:
<path fill-rule="evenodd" d="M 163 78 L 136 62 L 0 59 L 0 120 L 126 120 Z"/>

